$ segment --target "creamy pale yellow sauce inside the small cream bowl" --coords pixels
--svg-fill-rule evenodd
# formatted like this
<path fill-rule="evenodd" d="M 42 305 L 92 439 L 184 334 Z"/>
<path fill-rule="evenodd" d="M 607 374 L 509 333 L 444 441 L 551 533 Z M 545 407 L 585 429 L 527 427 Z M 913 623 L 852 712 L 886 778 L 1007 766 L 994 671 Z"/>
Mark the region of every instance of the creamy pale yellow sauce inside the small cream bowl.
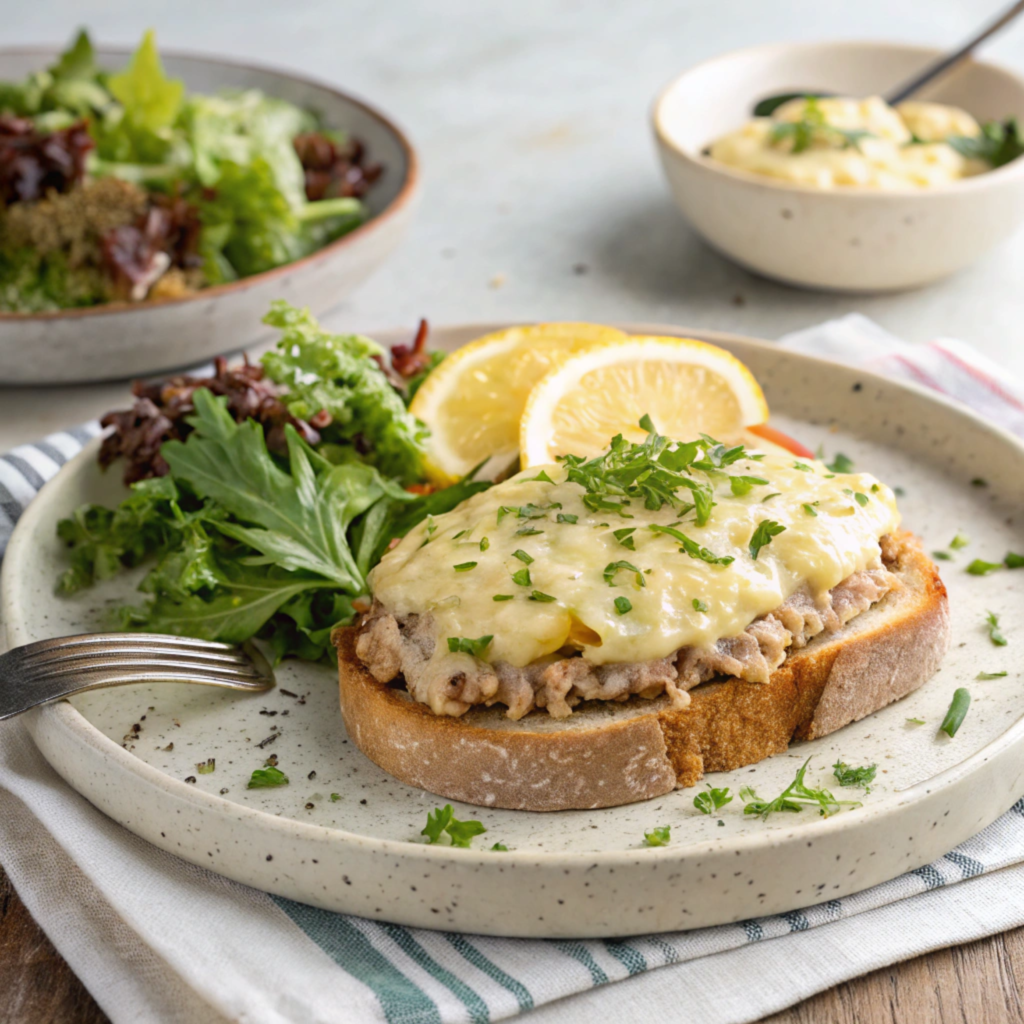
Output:
<path fill-rule="evenodd" d="M 806 100 L 795 99 L 770 118 L 756 118 L 712 143 L 713 160 L 755 174 L 815 188 L 928 188 L 990 170 L 969 160 L 944 139 L 977 135 L 978 122 L 956 106 L 907 101 L 897 108 L 884 99 L 825 98 L 816 101 L 827 125 L 870 135 L 844 146 L 841 136 L 816 133 L 811 145 L 793 153 L 790 139 L 773 140 L 780 122 L 799 121 Z M 914 142 L 912 139 L 924 140 Z"/>

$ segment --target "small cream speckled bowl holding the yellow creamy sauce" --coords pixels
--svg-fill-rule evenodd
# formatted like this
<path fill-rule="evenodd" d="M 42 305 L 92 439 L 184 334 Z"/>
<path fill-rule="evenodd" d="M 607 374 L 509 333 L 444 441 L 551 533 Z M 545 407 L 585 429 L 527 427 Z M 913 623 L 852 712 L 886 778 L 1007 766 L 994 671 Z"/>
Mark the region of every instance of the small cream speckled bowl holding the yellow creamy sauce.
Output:
<path fill-rule="evenodd" d="M 963 269 L 1024 219 L 1024 160 L 951 185 L 882 191 L 786 184 L 702 155 L 750 120 L 764 96 L 803 88 L 882 94 L 939 52 L 897 43 L 786 43 L 737 50 L 684 72 L 652 114 L 676 204 L 714 248 L 787 284 L 896 291 Z M 1024 80 L 980 61 L 914 98 L 963 106 L 979 121 L 1024 117 Z"/>

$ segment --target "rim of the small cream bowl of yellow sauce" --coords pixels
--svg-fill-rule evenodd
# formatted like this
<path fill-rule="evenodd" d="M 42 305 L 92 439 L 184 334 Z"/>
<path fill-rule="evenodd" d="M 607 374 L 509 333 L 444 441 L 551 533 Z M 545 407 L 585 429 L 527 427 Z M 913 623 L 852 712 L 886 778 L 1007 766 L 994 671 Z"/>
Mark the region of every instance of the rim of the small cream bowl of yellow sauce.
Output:
<path fill-rule="evenodd" d="M 867 185 L 841 185 L 835 188 L 816 188 L 814 185 L 782 181 L 778 178 L 771 178 L 764 174 L 756 174 L 753 171 L 744 171 L 739 168 L 730 167 L 727 164 L 721 164 L 718 161 L 712 160 L 700 153 L 694 156 L 676 142 L 664 124 L 664 108 L 670 94 L 674 92 L 679 83 L 682 82 L 682 80 L 688 75 L 691 75 L 696 71 L 700 71 L 711 65 L 717 63 L 720 60 L 731 59 L 743 55 L 754 56 L 756 54 L 769 53 L 773 50 L 786 53 L 798 50 L 856 50 L 865 48 L 902 50 L 904 52 L 919 53 L 921 54 L 923 60 L 941 56 L 946 52 L 936 46 L 923 46 L 916 43 L 903 43 L 895 40 L 878 39 L 836 39 L 760 43 L 755 46 L 742 46 L 737 49 L 726 50 L 724 53 L 718 53 L 713 57 L 699 60 L 697 63 L 685 69 L 658 90 L 650 108 L 650 123 L 651 129 L 654 133 L 654 138 L 663 151 L 668 151 L 673 156 L 678 157 L 701 172 L 718 174 L 723 178 L 731 179 L 737 183 L 761 186 L 770 191 L 791 195 L 796 194 L 799 196 L 827 197 L 829 200 L 837 201 L 850 200 L 853 202 L 862 202 L 868 199 L 874 199 L 879 201 L 908 200 L 910 202 L 920 203 L 929 197 L 945 196 L 950 193 L 966 193 L 969 190 L 977 191 L 979 188 L 992 187 L 994 185 L 1008 182 L 1011 178 L 1020 178 L 1024 176 L 1024 158 L 1019 158 L 1011 161 L 1009 164 L 1004 164 L 1002 167 L 994 167 L 990 171 L 985 171 L 982 174 L 976 174 L 969 178 L 961 178 L 959 180 L 950 182 L 949 184 L 932 185 L 927 188 L 871 188 Z M 993 60 L 979 60 L 975 57 L 967 57 L 961 67 L 968 65 L 975 65 L 977 67 L 987 68 L 998 72 L 1007 78 L 1015 81 L 1020 86 L 1021 90 L 1024 91 L 1024 76 L 1017 74 L 1017 72 L 1011 68 L 1007 68 L 1005 65 Z"/>

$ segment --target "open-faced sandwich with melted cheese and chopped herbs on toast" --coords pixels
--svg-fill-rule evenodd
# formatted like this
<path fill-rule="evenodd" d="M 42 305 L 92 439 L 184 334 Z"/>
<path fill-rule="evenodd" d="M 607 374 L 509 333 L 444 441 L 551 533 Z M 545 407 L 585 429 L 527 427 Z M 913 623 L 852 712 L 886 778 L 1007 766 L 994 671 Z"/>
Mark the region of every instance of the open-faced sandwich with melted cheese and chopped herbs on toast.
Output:
<path fill-rule="evenodd" d="M 869 715 L 948 646 L 945 588 L 866 473 L 616 437 L 414 528 L 336 634 L 348 735 L 492 807 L 647 800 Z"/>

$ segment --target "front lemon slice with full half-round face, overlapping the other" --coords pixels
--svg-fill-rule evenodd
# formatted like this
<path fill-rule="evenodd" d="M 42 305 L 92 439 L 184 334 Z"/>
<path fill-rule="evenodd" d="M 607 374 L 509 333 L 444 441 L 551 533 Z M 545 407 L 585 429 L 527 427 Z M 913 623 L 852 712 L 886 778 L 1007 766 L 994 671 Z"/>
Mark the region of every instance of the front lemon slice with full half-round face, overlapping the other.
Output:
<path fill-rule="evenodd" d="M 626 338 L 571 356 L 538 383 L 519 432 L 522 467 L 597 455 L 618 433 L 643 440 L 644 414 L 668 437 L 730 438 L 764 423 L 768 406 L 750 370 L 716 345 Z"/>

